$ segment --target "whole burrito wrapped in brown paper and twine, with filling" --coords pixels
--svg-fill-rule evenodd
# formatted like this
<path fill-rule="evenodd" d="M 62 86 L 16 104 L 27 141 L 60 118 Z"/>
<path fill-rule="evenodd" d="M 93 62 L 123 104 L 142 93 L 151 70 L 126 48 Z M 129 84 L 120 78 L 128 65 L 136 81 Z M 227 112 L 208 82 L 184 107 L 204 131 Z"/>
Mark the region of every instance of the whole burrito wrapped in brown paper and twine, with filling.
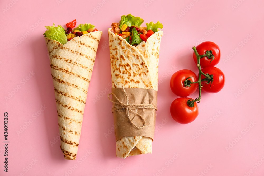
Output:
<path fill-rule="evenodd" d="M 113 102 L 116 156 L 119 158 L 152 153 L 159 47 L 163 33 L 159 28 L 163 25 L 158 21 L 141 27 L 143 22 L 140 17 L 123 15 L 119 23 L 112 23 L 112 28 L 108 29 L 112 76 L 110 101 Z M 127 112 L 118 115 L 119 111 Z"/>

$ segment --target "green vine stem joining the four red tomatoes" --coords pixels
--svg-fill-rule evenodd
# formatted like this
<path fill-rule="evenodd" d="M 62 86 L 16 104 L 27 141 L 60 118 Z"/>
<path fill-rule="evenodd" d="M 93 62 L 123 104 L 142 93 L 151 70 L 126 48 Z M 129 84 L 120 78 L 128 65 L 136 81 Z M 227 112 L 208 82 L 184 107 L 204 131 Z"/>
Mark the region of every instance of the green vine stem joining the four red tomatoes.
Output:
<path fill-rule="evenodd" d="M 211 75 L 206 75 L 205 73 L 202 72 L 202 69 L 201 69 L 201 63 L 200 63 L 200 59 L 203 58 L 203 57 L 208 57 L 208 58 L 212 58 L 212 60 L 214 59 L 214 56 L 212 55 L 212 53 L 210 53 L 209 51 L 206 51 L 206 54 L 203 54 L 203 55 L 199 55 L 197 50 L 196 50 L 196 47 L 192 47 L 192 49 L 194 50 L 194 53 L 196 55 L 196 58 L 197 58 L 197 67 L 198 67 L 198 71 L 199 71 L 199 74 L 198 74 L 198 81 L 196 82 L 191 82 L 190 84 L 194 84 L 194 83 L 198 83 L 199 85 L 199 97 L 197 97 L 196 99 L 192 100 L 192 99 L 189 99 L 187 101 L 187 104 L 188 106 L 190 107 L 194 107 L 194 103 L 195 102 L 200 102 L 201 101 L 201 92 L 202 92 L 202 81 L 204 80 L 210 80 L 212 79 Z M 201 76 L 204 75 L 205 76 L 205 79 L 201 80 Z M 187 80 L 187 79 L 186 79 Z"/>

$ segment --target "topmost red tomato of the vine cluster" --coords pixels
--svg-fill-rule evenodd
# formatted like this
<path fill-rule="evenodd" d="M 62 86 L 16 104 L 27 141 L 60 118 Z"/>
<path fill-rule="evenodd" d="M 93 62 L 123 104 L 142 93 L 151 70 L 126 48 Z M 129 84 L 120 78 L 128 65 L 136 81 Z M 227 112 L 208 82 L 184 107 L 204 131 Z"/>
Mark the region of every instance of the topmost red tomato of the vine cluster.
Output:
<path fill-rule="evenodd" d="M 216 45 L 214 42 L 205 41 L 199 44 L 196 47 L 196 50 L 199 55 L 206 54 L 206 51 L 213 51 L 213 55 L 215 55 L 214 60 L 211 62 L 212 59 L 208 59 L 207 57 L 203 57 L 200 59 L 201 68 L 207 67 L 207 66 L 215 66 L 220 61 L 220 49 L 219 46 Z M 194 58 L 195 63 L 197 64 L 197 58 L 196 55 L 193 53 L 192 57 Z M 211 63 L 210 63 L 211 62 Z"/>

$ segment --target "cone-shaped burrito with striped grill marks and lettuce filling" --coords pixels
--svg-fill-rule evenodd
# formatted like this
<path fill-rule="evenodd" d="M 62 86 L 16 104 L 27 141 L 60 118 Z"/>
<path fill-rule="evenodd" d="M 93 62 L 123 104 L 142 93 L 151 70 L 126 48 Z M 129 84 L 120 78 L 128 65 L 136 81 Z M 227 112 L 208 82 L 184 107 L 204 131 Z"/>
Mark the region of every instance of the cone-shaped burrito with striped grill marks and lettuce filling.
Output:
<path fill-rule="evenodd" d="M 91 24 L 72 29 L 58 25 L 45 26 L 51 77 L 53 79 L 60 149 L 64 159 L 75 160 L 81 135 L 84 106 L 102 31 Z"/>

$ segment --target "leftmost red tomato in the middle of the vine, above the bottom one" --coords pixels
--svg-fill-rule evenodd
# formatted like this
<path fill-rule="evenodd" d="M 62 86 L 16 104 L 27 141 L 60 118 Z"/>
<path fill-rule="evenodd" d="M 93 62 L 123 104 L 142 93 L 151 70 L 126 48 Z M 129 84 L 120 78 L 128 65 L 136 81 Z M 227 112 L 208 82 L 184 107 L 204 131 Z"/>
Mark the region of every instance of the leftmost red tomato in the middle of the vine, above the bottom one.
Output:
<path fill-rule="evenodd" d="M 187 97 L 197 90 L 198 83 L 191 84 L 191 87 L 184 86 L 184 81 L 188 77 L 191 77 L 188 79 L 191 80 L 191 82 L 196 82 L 198 80 L 196 74 L 191 70 L 179 70 L 172 75 L 170 86 L 172 92 L 175 93 L 177 96 Z"/>

